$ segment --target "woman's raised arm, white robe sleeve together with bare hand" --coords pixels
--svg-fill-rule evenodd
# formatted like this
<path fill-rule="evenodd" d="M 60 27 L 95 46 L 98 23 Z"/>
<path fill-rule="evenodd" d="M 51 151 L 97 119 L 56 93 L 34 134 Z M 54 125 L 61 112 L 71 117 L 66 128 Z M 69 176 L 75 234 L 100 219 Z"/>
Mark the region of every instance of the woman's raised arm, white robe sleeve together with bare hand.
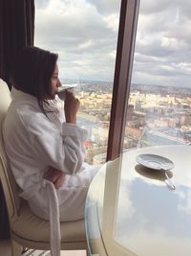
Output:
<path fill-rule="evenodd" d="M 23 145 L 25 143 L 30 145 L 30 153 L 34 161 L 62 170 L 65 174 L 74 175 L 81 169 L 85 158 L 84 141 L 88 132 L 74 124 L 79 102 L 71 92 L 69 99 L 71 104 L 68 103 L 68 106 L 66 104 L 65 110 L 67 120 L 63 123 L 60 121 L 59 126 L 51 121 L 52 115 L 54 118 L 53 112 L 48 112 L 49 119 L 33 107 L 29 108 L 28 112 L 21 111 L 17 122 L 21 122 L 22 125 L 19 126 L 26 129 Z"/>

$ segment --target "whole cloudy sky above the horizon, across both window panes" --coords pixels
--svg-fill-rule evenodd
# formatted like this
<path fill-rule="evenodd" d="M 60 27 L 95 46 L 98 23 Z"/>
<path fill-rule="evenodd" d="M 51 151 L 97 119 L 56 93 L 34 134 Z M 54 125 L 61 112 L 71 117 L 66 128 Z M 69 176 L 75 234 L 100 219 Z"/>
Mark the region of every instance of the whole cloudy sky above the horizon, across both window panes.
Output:
<path fill-rule="evenodd" d="M 61 78 L 114 81 L 120 0 L 35 0 L 34 44 Z M 132 82 L 191 88 L 191 2 L 140 0 Z"/>

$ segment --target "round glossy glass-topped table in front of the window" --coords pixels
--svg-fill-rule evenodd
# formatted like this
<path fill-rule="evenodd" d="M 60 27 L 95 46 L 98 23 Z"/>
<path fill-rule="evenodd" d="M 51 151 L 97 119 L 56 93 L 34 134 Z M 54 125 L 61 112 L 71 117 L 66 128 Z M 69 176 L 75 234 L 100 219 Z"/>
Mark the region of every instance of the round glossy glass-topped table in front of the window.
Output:
<path fill-rule="evenodd" d="M 139 154 L 167 157 L 165 172 L 137 162 Z M 172 185 L 171 184 L 171 185 Z M 86 199 L 90 255 L 191 255 L 191 146 L 125 151 L 103 165 Z"/>

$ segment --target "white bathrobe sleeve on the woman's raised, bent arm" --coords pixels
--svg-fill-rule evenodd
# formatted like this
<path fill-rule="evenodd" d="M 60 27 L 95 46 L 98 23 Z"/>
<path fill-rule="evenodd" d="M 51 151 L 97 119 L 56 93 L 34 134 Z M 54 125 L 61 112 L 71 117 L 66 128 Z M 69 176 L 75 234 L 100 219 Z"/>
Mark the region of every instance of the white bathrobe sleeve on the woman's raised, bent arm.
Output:
<path fill-rule="evenodd" d="M 31 119 L 26 128 L 32 153 L 38 161 L 68 175 L 81 169 L 85 157 L 84 141 L 87 130 L 69 123 L 62 123 L 60 130 L 40 113 Z"/>

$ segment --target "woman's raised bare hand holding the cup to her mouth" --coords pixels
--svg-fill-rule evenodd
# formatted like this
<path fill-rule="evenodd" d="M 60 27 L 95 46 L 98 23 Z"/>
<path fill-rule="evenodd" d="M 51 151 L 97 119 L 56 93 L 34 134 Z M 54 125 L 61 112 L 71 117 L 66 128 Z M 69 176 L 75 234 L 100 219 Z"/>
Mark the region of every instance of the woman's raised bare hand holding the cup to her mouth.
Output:
<path fill-rule="evenodd" d="M 64 111 L 67 123 L 76 124 L 76 113 L 79 105 L 79 100 L 74 97 L 74 93 L 70 90 L 66 90 Z"/>

